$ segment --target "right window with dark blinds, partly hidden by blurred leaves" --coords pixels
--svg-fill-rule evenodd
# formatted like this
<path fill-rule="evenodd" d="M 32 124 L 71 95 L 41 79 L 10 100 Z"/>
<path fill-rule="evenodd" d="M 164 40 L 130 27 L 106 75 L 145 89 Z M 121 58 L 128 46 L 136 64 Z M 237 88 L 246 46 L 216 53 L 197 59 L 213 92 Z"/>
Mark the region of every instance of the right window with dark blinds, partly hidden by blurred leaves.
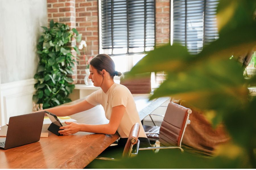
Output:
<path fill-rule="evenodd" d="M 216 7 L 218 0 L 173 0 L 171 40 L 187 46 L 191 54 L 218 38 Z"/>

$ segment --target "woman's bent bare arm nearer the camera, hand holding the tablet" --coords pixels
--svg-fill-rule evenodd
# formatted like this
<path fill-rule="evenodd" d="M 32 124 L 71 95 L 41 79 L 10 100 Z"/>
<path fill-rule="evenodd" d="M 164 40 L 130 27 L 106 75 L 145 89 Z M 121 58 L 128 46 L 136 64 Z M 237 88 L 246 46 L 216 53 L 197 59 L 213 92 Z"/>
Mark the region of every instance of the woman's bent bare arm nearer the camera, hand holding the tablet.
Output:
<path fill-rule="evenodd" d="M 67 126 L 62 126 L 59 133 L 62 135 L 70 135 L 77 133 L 79 131 L 91 132 L 91 133 L 104 133 L 104 134 L 114 134 L 119 127 L 123 114 L 125 112 L 125 107 L 123 105 L 112 107 L 112 113 L 110 121 L 108 124 L 102 125 L 88 125 L 88 124 L 78 124 L 75 122 L 65 122 Z"/>

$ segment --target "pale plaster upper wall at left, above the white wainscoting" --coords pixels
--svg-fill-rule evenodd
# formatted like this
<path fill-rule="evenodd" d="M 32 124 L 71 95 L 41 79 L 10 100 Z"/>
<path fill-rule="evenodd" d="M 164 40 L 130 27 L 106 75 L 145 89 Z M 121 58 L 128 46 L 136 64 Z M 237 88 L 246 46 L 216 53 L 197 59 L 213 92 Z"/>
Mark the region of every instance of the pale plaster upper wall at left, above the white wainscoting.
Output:
<path fill-rule="evenodd" d="M 46 0 L 0 1 L 1 83 L 34 77 L 40 26 L 47 24 Z"/>

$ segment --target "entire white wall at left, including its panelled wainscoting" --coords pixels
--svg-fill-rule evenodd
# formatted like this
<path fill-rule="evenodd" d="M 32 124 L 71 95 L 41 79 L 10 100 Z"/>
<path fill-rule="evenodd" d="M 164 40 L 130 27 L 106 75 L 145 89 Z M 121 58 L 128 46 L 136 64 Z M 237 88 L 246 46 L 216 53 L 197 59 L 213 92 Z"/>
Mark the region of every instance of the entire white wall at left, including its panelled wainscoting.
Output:
<path fill-rule="evenodd" d="M 36 44 L 47 25 L 46 0 L 0 0 L 0 124 L 32 111 Z"/>

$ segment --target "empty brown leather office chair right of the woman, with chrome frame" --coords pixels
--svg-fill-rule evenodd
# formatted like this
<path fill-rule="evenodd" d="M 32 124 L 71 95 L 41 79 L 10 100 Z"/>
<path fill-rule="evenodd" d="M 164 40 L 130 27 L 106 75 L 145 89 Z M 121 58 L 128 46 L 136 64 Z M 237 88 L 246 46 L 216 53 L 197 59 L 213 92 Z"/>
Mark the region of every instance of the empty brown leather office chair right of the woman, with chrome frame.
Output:
<path fill-rule="evenodd" d="M 145 130 L 147 135 L 152 135 L 148 136 L 149 140 L 159 140 L 161 146 L 139 148 L 139 150 L 179 148 L 183 152 L 181 141 L 187 124 L 190 124 L 189 114 L 191 113 L 191 109 L 170 102 L 167 106 L 161 126 L 156 126 L 155 129 L 151 127 L 151 130 L 154 132 L 147 132 Z M 148 128 L 150 128 L 150 126 L 148 126 Z M 157 129 L 159 129 L 159 131 L 157 131 Z"/>

